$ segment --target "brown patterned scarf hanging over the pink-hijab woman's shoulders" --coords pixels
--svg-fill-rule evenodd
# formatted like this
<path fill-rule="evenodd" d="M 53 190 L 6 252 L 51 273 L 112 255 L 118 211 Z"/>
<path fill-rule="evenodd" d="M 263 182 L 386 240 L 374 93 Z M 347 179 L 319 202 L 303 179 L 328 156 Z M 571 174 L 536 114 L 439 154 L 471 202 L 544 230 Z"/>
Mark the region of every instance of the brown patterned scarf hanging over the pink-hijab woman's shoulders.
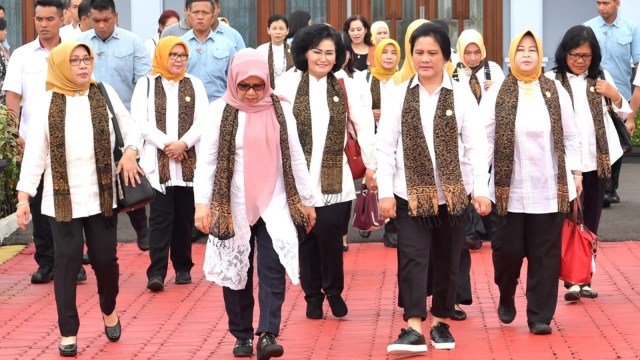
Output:
<path fill-rule="evenodd" d="M 272 94 L 271 99 L 278 118 L 278 124 L 280 125 L 280 151 L 282 152 L 282 171 L 287 194 L 287 205 L 289 206 L 291 219 L 298 229 L 298 238 L 300 239 L 305 234 L 304 229 L 309 224 L 309 219 L 304 214 L 302 201 L 300 200 L 291 168 L 287 121 L 278 97 Z M 222 112 L 222 121 L 220 122 L 218 166 L 213 181 L 212 221 L 209 232 L 219 240 L 228 240 L 235 235 L 231 214 L 231 179 L 233 178 L 235 164 L 237 131 L 238 109 L 227 105 Z"/>

